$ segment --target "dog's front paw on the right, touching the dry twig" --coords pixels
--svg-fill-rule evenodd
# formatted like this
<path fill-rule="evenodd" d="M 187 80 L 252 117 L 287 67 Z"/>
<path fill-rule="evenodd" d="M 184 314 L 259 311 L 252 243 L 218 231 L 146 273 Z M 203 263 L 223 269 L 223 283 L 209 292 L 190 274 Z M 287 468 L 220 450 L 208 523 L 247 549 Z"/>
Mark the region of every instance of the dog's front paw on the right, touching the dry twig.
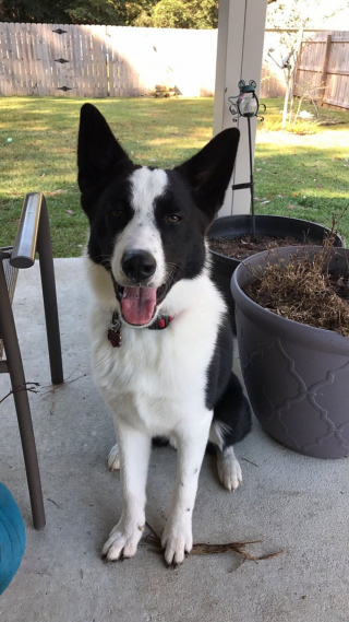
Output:
<path fill-rule="evenodd" d="M 168 519 L 161 538 L 165 550 L 164 558 L 167 566 L 176 567 L 184 561 L 193 547 L 191 516 L 181 519 Z"/>

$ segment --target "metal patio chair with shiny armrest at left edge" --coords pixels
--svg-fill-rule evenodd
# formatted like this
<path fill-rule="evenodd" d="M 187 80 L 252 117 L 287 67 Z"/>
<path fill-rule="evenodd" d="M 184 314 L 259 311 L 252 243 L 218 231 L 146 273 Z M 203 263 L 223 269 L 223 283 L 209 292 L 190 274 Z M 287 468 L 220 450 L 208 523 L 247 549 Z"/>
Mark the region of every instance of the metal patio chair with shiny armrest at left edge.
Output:
<path fill-rule="evenodd" d="M 63 383 L 52 246 L 45 197 L 26 195 L 13 247 L 0 248 L 0 373 L 10 374 L 20 426 L 35 529 L 45 527 L 45 508 L 33 422 L 21 350 L 12 313 L 17 270 L 31 268 L 39 255 L 51 380 Z M 2 360 L 3 349 L 5 360 Z"/>

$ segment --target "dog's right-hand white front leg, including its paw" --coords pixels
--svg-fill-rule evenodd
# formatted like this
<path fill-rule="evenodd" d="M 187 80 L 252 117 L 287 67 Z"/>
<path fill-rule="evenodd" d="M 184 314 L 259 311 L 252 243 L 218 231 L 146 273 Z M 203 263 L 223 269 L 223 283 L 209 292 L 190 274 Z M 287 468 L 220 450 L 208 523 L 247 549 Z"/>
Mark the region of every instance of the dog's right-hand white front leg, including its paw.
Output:
<path fill-rule="evenodd" d="M 193 545 L 192 514 L 210 422 L 212 413 L 206 411 L 195 427 L 185 427 L 176 434 L 177 477 L 161 538 L 168 565 L 181 564 Z"/>

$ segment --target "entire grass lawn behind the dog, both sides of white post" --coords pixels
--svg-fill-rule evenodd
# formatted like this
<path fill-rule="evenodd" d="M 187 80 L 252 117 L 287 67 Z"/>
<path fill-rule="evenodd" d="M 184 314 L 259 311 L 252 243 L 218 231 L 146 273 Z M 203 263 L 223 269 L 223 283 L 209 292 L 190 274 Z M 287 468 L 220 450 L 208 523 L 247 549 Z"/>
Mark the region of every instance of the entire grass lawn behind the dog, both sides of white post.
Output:
<path fill-rule="evenodd" d="M 13 242 L 24 195 L 40 190 L 47 197 L 55 256 L 81 255 L 87 223 L 80 208 L 75 152 L 83 103 L 46 97 L 0 99 L 0 246 Z M 141 164 L 171 167 L 212 137 L 212 98 L 93 103 Z M 280 131 L 281 101 L 265 103 L 267 113 L 258 126 L 255 153 L 256 211 L 330 224 L 332 214 L 341 213 L 349 202 L 349 113 L 324 110 L 326 117 L 346 124 L 320 128 L 298 124 L 297 132 L 313 132 L 300 134 Z M 349 235 L 349 213 L 339 231 Z"/>

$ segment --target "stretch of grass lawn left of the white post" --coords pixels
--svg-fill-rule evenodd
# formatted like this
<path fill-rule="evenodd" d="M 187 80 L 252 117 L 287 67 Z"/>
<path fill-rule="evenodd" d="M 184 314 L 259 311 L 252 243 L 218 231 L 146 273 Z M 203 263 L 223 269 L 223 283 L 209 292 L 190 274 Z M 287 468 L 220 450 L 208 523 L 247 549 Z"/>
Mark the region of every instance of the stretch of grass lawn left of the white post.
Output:
<path fill-rule="evenodd" d="M 170 167 L 212 137 L 210 98 L 89 101 L 140 164 Z M 76 139 L 84 103 L 50 97 L 0 99 L 0 245 L 14 238 L 25 193 L 40 190 L 47 196 L 55 256 L 81 255 L 87 222 L 76 186 Z M 8 138 L 13 142 L 7 143 Z"/>

